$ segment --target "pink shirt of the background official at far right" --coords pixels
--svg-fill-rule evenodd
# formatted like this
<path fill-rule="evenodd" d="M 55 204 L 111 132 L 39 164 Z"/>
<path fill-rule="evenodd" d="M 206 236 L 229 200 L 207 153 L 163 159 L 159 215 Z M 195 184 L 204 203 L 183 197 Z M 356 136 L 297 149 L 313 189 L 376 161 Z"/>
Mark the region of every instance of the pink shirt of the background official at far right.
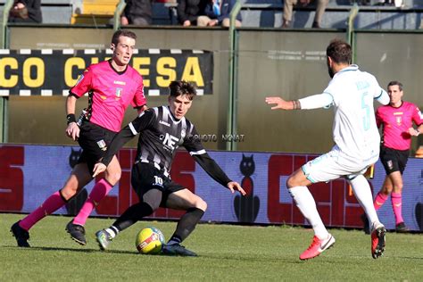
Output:
<path fill-rule="evenodd" d="M 384 145 L 395 150 L 409 150 L 411 135 L 408 130 L 414 122 L 417 126 L 423 123 L 423 115 L 419 107 L 410 102 L 402 101 L 401 106 L 395 108 L 384 105 L 376 111 L 377 127 L 383 125 Z"/>

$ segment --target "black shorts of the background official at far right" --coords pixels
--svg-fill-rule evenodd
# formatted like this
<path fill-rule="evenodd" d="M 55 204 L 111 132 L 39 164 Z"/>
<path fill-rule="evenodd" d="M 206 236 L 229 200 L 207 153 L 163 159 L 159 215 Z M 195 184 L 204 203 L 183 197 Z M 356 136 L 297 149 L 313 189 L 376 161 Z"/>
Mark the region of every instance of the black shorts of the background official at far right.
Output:
<path fill-rule="evenodd" d="M 409 160 L 410 150 L 395 150 L 380 146 L 380 162 L 384 165 L 386 175 L 394 171 L 404 172 Z"/>

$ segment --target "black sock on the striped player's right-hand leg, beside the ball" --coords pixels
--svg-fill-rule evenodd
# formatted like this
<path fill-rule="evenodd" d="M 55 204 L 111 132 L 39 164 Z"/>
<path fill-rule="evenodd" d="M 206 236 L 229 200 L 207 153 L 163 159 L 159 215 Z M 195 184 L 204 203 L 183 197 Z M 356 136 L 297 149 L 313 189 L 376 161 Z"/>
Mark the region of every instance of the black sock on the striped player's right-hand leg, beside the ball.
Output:
<path fill-rule="evenodd" d="M 170 237 L 168 245 L 176 244 L 184 241 L 187 236 L 193 232 L 197 223 L 203 217 L 204 211 L 198 208 L 191 208 L 187 210 L 179 220 L 175 233 Z"/>

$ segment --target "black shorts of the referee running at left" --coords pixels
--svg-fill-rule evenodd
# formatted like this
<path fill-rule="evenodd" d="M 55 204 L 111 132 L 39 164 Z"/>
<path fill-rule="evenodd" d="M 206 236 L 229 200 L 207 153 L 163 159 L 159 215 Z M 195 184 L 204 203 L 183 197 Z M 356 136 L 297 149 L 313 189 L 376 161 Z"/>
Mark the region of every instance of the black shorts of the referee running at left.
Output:
<path fill-rule="evenodd" d="M 82 153 L 78 163 L 87 163 L 89 171 L 93 172 L 95 163 L 104 157 L 107 146 L 116 134 L 89 121 L 82 122 L 78 138 Z"/>

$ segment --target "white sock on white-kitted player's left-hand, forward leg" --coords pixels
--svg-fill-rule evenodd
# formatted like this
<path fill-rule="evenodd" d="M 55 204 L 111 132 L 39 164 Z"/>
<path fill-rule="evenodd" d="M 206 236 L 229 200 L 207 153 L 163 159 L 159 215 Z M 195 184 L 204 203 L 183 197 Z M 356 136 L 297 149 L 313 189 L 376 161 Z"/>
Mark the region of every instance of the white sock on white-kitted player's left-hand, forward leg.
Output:
<path fill-rule="evenodd" d="M 314 230 L 314 234 L 319 239 L 328 238 L 328 230 L 325 228 L 323 221 L 320 219 L 319 211 L 316 207 L 316 202 L 311 195 L 309 189 L 305 186 L 292 187 L 288 189 L 291 196 L 294 198 L 296 206 L 303 213 L 306 220 L 309 221 Z M 373 203 L 372 203 L 373 204 Z"/>

